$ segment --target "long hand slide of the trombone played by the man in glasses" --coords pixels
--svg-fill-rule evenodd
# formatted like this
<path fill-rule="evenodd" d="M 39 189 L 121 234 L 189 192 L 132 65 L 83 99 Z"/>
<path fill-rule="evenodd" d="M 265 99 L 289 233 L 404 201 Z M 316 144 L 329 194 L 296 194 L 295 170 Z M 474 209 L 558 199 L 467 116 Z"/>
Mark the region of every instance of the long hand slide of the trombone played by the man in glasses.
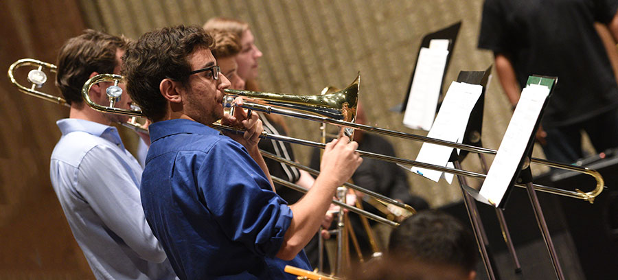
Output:
<path fill-rule="evenodd" d="M 236 95 L 239 91 L 236 90 L 225 90 L 227 93 L 231 93 L 232 95 Z M 241 95 L 242 96 L 242 95 Z M 413 135 L 411 133 L 407 133 L 407 132 L 400 132 L 400 131 L 395 131 L 395 130 L 388 130 L 385 128 L 376 128 L 373 126 L 366 126 L 364 124 L 355 124 L 349 121 L 341 121 L 338 119 L 330 119 L 328 117 L 321 117 L 321 116 L 317 116 L 317 115 L 310 115 L 310 114 L 306 114 L 306 113 L 301 113 L 301 112 L 297 112 L 297 111 L 293 111 L 293 110 L 286 110 L 286 109 L 282 109 L 282 108 L 274 108 L 273 106 L 268 106 L 268 105 L 262 105 L 262 104 L 250 104 L 250 103 L 243 103 L 242 105 L 238 105 L 235 104 L 234 106 L 240 106 L 242 108 L 247 108 L 250 110 L 258 110 L 260 112 L 264 112 L 264 113 L 276 113 L 279 115 L 286 115 L 288 117 L 297 117 L 300 119 L 308 119 L 311 121 L 320 121 L 323 123 L 328 123 L 328 124 L 334 124 L 334 125 L 338 125 L 338 126 L 346 126 L 346 127 L 350 127 L 350 128 L 355 128 L 355 129 L 359 129 L 359 130 L 365 130 L 367 132 L 374 132 L 374 133 L 378 133 L 378 134 L 382 134 L 382 135 L 389 135 L 389 136 L 393 136 L 393 137 L 400 137 L 400 138 L 404 138 L 404 139 L 411 139 L 411 140 L 415 140 L 415 141 L 422 141 L 422 142 L 426 142 L 426 143 L 433 143 L 436 145 L 444 145 L 446 147 L 450 147 L 450 148 L 457 148 L 457 149 L 461 149 L 461 150 L 466 150 L 469 152 L 478 152 L 481 154 L 496 154 L 497 151 L 496 150 L 492 150 L 492 149 L 488 149 L 488 148 L 481 148 L 481 147 L 474 147 L 472 145 L 466 145 L 466 144 L 462 144 L 462 143 L 456 143 L 456 142 L 450 142 L 450 141 L 444 141 L 444 140 L 440 140 L 440 139 L 435 139 L 435 138 L 431 138 L 431 137 L 424 137 L 424 136 L 420 136 L 420 135 Z M 271 137 L 268 137 L 269 139 L 273 139 Z M 290 141 L 291 143 L 300 143 L 303 145 L 310 145 L 312 147 L 315 148 L 323 148 L 324 144 L 321 143 L 315 143 L 315 142 L 311 142 L 311 141 L 304 141 L 301 139 L 293 139 L 291 137 L 286 137 L 286 139 L 275 139 L 275 140 L 281 140 L 281 141 Z M 428 163 L 421 163 L 418 161 L 411 161 L 408 159 L 400 159 L 400 158 L 396 158 L 393 156 L 384 156 L 382 154 L 375 154 L 375 153 L 371 153 L 371 152 L 363 152 L 363 151 L 358 151 L 359 154 L 361 154 L 361 156 L 365 156 L 368 158 L 372 158 L 372 159 L 380 159 L 380 160 L 384 160 L 384 161 L 391 161 L 391 162 L 395 162 L 395 163 L 401 163 L 404 165 L 412 165 L 412 166 L 417 166 L 417 167 L 422 167 L 422 168 L 426 168 L 426 169 L 431 169 L 431 170 L 437 170 L 437 171 L 442 171 L 442 172 L 448 172 L 451 174 L 456 174 L 456 175 L 462 175 L 462 176 L 468 176 L 468 177 L 472 177 L 472 178 L 481 178 L 484 179 L 486 177 L 485 174 L 480 174 L 477 172 L 469 172 L 466 170 L 457 170 L 454 168 L 449 168 L 449 167 L 443 167 L 443 166 L 439 166 L 439 165 L 432 165 L 432 164 L 428 164 Z M 564 190 L 564 189 L 558 189 L 558 188 L 554 188 L 554 187 L 547 187 L 547 186 L 543 186 L 543 185 L 536 185 L 533 184 L 535 189 L 538 189 L 539 191 L 545 191 L 547 193 L 550 194 L 557 194 L 557 195 L 562 195 L 562 196 L 569 196 L 571 198 L 580 198 L 583 200 L 586 200 L 588 202 L 593 203 L 594 202 L 594 198 L 596 196 L 598 196 L 599 194 L 601 194 L 601 192 L 603 191 L 604 188 L 604 180 L 603 177 L 601 176 L 601 174 L 599 174 L 599 172 L 597 172 L 596 170 L 591 170 L 588 169 L 587 167 L 580 167 L 580 166 L 575 166 L 575 165 L 565 165 L 562 163 L 555 163 L 552 161 L 547 161 L 544 159 L 537 159 L 537 158 L 531 158 L 530 161 L 532 163 L 539 163 L 541 165 L 546 165 L 549 167 L 555 167 L 555 168 L 560 168 L 562 170 L 570 170 L 570 171 L 574 171 L 574 172 L 580 172 L 589 176 L 592 176 L 593 178 L 595 178 L 596 180 L 596 186 L 595 189 L 593 189 L 592 191 L 588 191 L 588 192 L 584 192 L 584 191 L 580 191 L 580 189 L 575 189 L 575 191 L 568 191 L 568 190 Z M 523 187 L 525 188 L 525 185 L 523 184 L 515 184 L 517 187 Z"/>

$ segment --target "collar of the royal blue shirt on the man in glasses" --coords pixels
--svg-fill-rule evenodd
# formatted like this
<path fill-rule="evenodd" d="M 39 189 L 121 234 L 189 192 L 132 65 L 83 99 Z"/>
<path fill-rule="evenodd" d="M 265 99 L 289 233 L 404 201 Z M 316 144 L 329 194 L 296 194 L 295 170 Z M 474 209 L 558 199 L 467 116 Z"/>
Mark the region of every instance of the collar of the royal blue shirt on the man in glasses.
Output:
<path fill-rule="evenodd" d="M 219 131 L 204 124 L 190 119 L 169 119 L 167 121 L 157 121 L 148 126 L 150 132 L 150 142 L 154 143 L 158 139 L 181 133 L 198 135 L 218 135 Z"/>

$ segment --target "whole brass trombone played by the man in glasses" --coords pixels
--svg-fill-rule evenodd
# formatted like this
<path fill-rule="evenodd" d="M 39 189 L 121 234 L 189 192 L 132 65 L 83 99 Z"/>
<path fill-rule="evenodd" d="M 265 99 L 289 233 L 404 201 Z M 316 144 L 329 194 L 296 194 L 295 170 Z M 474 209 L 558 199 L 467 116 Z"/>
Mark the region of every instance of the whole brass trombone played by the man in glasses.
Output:
<path fill-rule="evenodd" d="M 112 74 L 100 74 L 96 75 L 84 84 L 82 88 L 82 95 L 84 95 L 84 100 L 86 100 L 89 106 L 93 107 L 95 110 L 100 110 L 102 112 L 108 113 L 116 113 L 130 116 L 141 116 L 141 111 L 131 111 L 131 110 L 123 110 L 119 108 L 111 108 L 109 106 L 101 106 L 99 104 L 94 104 L 90 98 L 88 97 L 88 92 L 91 86 L 97 82 L 113 82 L 115 80 L 122 80 L 121 75 L 112 75 Z M 224 98 L 224 106 L 225 107 L 235 107 L 238 106 L 240 108 L 246 108 L 248 110 L 258 110 L 264 113 L 275 113 L 279 115 L 286 115 L 288 117 L 297 117 L 300 119 L 307 119 L 311 121 L 319 121 L 327 124 L 334 124 L 336 126 L 342 126 L 345 128 L 359 129 L 365 130 L 367 132 L 374 132 L 382 135 L 389 135 L 393 137 L 400 137 L 404 139 L 410 139 L 414 141 L 422 141 L 426 143 L 433 143 L 437 145 L 444 145 L 450 148 L 457 148 L 461 150 L 466 150 L 469 152 L 477 152 L 480 154 L 496 154 L 496 150 L 491 150 L 488 148 L 475 147 L 472 145 L 466 145 L 461 143 L 455 143 L 450 141 L 444 141 L 440 139 L 434 139 L 431 137 L 424 137 L 420 135 L 413 135 L 407 132 L 399 132 L 395 130 L 388 130 L 385 128 L 378 128 L 374 126 L 367 126 L 363 124 L 355 124 L 352 122 L 354 120 L 354 115 L 356 114 L 356 100 L 358 100 L 358 83 L 359 77 L 357 77 L 352 84 L 345 87 L 341 91 L 337 91 L 335 93 L 328 93 L 324 95 L 293 95 L 293 94 L 283 94 L 283 93 L 265 93 L 258 91 L 239 91 L 234 89 L 225 89 L 225 93 L 228 93 L 229 96 Z M 260 100 L 266 104 L 257 104 L 251 102 L 243 102 L 242 105 L 238 105 L 233 103 L 233 97 L 231 96 L 241 96 L 241 97 L 249 97 L 256 100 Z M 283 107 L 283 108 L 281 108 Z M 301 111 L 309 112 L 303 113 Z M 242 130 L 238 130 L 236 128 L 231 128 L 229 126 L 222 126 L 221 124 L 212 124 L 213 128 L 218 130 L 228 130 L 235 132 L 242 132 Z M 278 141 L 286 141 L 289 143 L 297 143 L 301 145 L 307 145 L 314 148 L 325 148 L 324 143 L 317 143 L 314 141 L 308 141 L 304 139 L 297 139 L 293 137 L 287 137 L 282 135 L 270 135 L 266 132 L 262 133 L 261 138 L 263 139 L 274 139 Z M 399 163 L 402 165 L 411 165 L 422 167 L 431 170 L 437 170 L 441 172 L 447 172 L 450 174 L 467 176 L 471 178 L 479 178 L 484 179 L 487 175 L 481 174 L 478 172 L 472 172 L 468 170 L 459 170 L 456 168 L 444 167 L 440 165 L 433 165 L 429 163 L 422 163 L 420 161 L 412 161 L 409 159 L 401 159 L 395 156 L 385 156 L 383 154 L 376 154 L 373 152 L 365 152 L 361 150 L 357 150 L 361 156 L 370 158 L 370 159 L 378 159 L 382 161 L 389 161 L 392 163 Z M 571 198 L 579 198 L 588 202 L 593 203 L 594 199 L 601 194 L 604 188 L 604 180 L 601 174 L 596 170 L 591 170 L 587 167 L 579 167 L 575 165 L 565 165 L 562 163 L 555 163 L 552 161 L 547 161 L 544 159 L 536 159 L 531 158 L 531 163 L 538 163 L 540 165 L 545 165 L 548 167 L 555 167 L 562 170 L 569 170 L 573 172 L 579 172 L 582 174 L 586 174 L 595 178 L 596 185 L 595 188 L 591 191 L 584 192 L 580 189 L 575 189 L 575 191 L 558 189 L 556 187 L 549 187 L 545 185 L 533 184 L 534 189 L 538 191 L 544 191 L 549 194 L 556 194 L 559 196 L 568 196 Z M 516 183 L 517 187 L 525 188 L 525 185 Z M 401 205 L 397 205 L 402 208 Z"/>

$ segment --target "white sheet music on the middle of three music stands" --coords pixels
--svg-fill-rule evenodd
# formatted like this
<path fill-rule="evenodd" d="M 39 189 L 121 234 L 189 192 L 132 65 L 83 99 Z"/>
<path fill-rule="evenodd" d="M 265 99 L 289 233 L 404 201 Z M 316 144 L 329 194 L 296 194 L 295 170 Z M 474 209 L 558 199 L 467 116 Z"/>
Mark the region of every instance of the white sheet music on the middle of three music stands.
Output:
<path fill-rule="evenodd" d="M 479 84 L 452 82 L 427 137 L 461 143 L 466 132 L 466 126 L 468 126 L 468 119 L 470 119 L 472 108 L 479 101 L 482 91 L 483 86 Z M 416 161 L 447 166 L 452 152 L 453 148 L 450 147 L 423 143 Z M 448 167 L 453 167 L 453 165 L 449 164 Z M 412 167 L 410 170 L 435 182 L 442 176 L 442 172 L 437 170 L 419 167 Z M 448 183 L 452 183 L 453 174 L 446 175 L 445 178 Z"/>

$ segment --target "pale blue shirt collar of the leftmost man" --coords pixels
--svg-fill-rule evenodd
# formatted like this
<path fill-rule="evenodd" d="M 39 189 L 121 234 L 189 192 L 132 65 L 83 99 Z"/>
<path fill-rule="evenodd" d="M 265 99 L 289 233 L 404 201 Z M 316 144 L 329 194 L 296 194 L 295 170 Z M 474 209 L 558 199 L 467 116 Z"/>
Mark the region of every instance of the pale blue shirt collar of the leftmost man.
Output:
<path fill-rule="evenodd" d="M 113 126 L 106 126 L 85 119 L 60 119 L 56 121 L 56 125 L 60 128 L 62 136 L 76 131 L 87 132 L 91 135 L 106 139 L 124 150 L 124 144 L 122 143 L 122 139 L 120 139 L 118 130 Z"/>

